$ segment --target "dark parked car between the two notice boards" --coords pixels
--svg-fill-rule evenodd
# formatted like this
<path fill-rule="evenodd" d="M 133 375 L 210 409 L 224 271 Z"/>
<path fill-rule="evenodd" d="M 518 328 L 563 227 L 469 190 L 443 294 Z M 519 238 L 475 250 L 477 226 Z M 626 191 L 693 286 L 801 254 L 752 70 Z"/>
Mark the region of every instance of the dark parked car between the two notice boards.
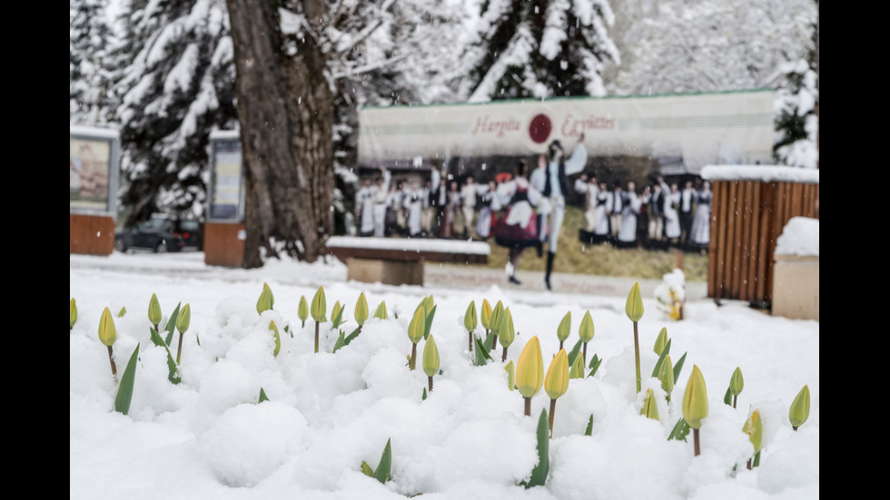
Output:
<path fill-rule="evenodd" d="M 114 248 L 152 250 L 156 253 L 180 250 L 202 250 L 202 224 L 199 221 L 153 216 L 128 230 L 114 233 Z"/>

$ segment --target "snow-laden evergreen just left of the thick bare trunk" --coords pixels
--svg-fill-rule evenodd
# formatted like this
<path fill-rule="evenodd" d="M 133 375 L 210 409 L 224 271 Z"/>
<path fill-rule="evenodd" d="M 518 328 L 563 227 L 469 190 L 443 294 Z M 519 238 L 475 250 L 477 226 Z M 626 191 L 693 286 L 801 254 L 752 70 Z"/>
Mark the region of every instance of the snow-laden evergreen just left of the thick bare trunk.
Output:
<path fill-rule="evenodd" d="M 234 66 L 222 0 L 124 5 L 121 203 L 127 223 L 154 211 L 203 212 L 210 132 L 232 129 Z"/>

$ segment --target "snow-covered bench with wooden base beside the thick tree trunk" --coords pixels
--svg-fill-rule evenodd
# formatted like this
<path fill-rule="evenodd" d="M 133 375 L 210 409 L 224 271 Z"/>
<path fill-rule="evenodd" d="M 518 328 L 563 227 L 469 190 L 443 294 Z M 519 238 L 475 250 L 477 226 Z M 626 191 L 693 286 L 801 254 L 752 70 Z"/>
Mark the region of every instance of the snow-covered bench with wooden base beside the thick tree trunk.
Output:
<path fill-rule="evenodd" d="M 347 279 L 387 285 L 423 285 L 424 262 L 486 264 L 482 241 L 332 236 L 328 253 L 346 263 Z"/>

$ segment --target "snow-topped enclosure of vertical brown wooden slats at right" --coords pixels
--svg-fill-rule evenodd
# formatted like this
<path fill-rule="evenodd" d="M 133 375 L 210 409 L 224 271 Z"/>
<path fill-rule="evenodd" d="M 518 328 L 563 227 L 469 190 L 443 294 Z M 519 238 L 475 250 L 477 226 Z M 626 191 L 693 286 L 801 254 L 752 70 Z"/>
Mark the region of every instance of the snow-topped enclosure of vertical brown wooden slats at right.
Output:
<path fill-rule="evenodd" d="M 775 167 L 752 168 L 771 172 L 768 169 Z M 706 172 L 702 176 L 707 179 Z M 772 301 L 776 239 L 792 217 L 819 218 L 817 171 L 815 179 L 710 179 L 714 199 L 707 260 L 708 297 L 760 305 Z"/>

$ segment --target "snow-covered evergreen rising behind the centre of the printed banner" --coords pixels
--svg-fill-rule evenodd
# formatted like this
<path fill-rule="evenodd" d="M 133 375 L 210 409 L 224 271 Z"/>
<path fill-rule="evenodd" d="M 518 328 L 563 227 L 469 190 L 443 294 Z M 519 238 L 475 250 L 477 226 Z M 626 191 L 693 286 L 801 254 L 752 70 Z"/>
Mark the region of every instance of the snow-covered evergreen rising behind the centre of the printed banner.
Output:
<path fill-rule="evenodd" d="M 470 102 L 606 94 L 618 63 L 608 0 L 483 0 L 470 27 L 459 94 Z"/>

